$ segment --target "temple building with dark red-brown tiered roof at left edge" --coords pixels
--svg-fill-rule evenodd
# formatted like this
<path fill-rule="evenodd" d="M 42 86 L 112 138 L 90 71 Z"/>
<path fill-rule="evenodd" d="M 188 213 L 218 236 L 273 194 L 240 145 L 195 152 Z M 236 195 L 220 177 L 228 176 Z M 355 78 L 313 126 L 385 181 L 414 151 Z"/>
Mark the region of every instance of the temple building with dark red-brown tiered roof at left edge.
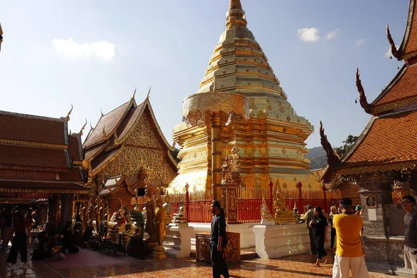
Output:
<path fill-rule="evenodd" d="M 90 188 L 81 166 L 83 129 L 68 132 L 70 113 L 51 118 L 0 111 L 1 204 L 32 206 L 41 223 L 72 219 L 74 199 Z"/>

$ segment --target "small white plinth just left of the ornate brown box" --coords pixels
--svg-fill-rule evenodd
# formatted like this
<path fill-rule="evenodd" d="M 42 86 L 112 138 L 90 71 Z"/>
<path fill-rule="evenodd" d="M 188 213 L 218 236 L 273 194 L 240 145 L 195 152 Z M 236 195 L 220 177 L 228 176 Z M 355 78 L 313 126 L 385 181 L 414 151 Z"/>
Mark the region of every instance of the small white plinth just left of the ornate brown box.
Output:
<path fill-rule="evenodd" d="M 163 242 L 167 256 L 175 259 L 188 258 L 191 252 L 191 236 L 193 234 L 193 227 L 167 227 L 167 235 Z"/>

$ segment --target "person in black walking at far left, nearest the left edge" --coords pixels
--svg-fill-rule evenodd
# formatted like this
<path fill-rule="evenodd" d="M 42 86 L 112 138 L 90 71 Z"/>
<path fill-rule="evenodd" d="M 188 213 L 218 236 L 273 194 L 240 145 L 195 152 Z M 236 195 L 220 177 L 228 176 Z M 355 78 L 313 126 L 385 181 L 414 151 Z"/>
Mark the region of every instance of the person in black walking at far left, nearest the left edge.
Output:
<path fill-rule="evenodd" d="M 13 269 L 13 265 L 17 261 L 17 252 L 20 252 L 20 260 L 22 263 L 28 261 L 28 251 L 26 249 L 26 225 L 24 222 L 24 215 L 21 211 L 15 211 L 13 215 L 13 230 L 15 231 L 15 236 L 13 236 L 12 247 L 7 257 L 8 271 Z"/>

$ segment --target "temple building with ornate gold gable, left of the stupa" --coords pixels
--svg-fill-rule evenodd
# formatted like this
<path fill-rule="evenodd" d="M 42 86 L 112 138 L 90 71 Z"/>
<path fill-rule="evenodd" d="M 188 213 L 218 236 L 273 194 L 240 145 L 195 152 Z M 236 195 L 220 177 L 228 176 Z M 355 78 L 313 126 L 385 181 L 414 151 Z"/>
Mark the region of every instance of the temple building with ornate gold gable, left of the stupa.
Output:
<path fill-rule="evenodd" d="M 144 195 L 145 174 L 156 187 L 166 188 L 177 175 L 177 162 L 156 122 L 149 97 L 137 105 L 133 97 L 107 114 L 101 114 L 83 143 L 88 185 L 115 212 Z"/>

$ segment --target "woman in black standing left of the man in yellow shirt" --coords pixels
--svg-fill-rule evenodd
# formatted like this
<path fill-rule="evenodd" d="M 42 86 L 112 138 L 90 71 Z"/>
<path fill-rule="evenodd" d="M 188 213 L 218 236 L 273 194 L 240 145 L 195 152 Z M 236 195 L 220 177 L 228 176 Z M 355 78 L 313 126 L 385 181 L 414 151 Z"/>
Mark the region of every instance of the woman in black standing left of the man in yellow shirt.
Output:
<path fill-rule="evenodd" d="M 327 230 L 327 219 L 325 218 L 325 215 L 322 213 L 322 209 L 320 206 L 316 206 L 314 208 L 314 218 L 310 221 L 309 227 L 311 228 L 314 243 L 316 244 L 316 250 L 317 250 L 317 261 L 314 265 L 316 268 L 320 267 L 320 260 L 324 257 L 325 258 L 325 264 L 327 263 L 327 252 L 325 250 L 325 241 L 327 241 L 326 238 L 326 230 Z"/>

